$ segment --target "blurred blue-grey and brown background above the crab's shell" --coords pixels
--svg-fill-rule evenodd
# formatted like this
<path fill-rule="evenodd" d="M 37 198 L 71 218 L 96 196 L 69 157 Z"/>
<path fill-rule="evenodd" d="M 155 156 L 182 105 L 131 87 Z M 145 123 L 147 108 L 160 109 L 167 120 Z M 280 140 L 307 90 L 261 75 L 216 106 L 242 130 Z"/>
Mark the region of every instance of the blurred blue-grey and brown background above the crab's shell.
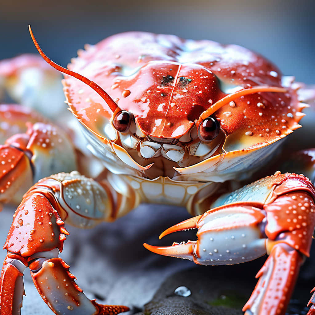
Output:
<path fill-rule="evenodd" d="M 123 31 L 212 39 L 253 49 L 286 75 L 315 83 L 312 0 L 65 0 L 1 1 L 0 59 L 43 50 L 63 66 L 85 43 Z"/>

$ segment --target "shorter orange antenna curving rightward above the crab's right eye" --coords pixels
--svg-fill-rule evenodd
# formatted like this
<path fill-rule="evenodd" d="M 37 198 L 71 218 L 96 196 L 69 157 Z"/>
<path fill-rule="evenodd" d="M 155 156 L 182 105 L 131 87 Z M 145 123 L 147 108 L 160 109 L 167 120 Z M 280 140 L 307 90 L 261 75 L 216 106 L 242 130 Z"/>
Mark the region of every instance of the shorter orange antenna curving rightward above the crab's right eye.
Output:
<path fill-rule="evenodd" d="M 211 116 L 215 111 L 217 111 L 220 107 L 223 105 L 226 105 L 227 103 L 231 102 L 232 100 L 235 100 L 243 95 L 258 93 L 258 92 L 279 92 L 279 93 L 285 93 L 287 92 L 287 89 L 279 88 L 277 86 L 267 86 L 267 85 L 261 85 L 261 86 L 254 86 L 253 88 L 249 89 L 242 89 L 235 93 L 228 94 L 221 98 L 221 100 L 218 100 L 213 105 L 211 105 L 206 111 L 202 112 L 199 116 L 198 123 L 201 123 L 204 119 Z"/>

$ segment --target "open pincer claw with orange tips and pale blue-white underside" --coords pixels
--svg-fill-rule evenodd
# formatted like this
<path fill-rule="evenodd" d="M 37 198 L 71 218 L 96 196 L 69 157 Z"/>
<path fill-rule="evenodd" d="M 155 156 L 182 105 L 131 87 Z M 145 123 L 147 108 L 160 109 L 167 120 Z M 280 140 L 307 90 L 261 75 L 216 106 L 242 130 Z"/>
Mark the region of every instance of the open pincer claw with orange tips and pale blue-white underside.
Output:
<path fill-rule="evenodd" d="M 144 244 L 156 254 L 185 258 L 201 265 L 229 265 L 251 261 L 266 254 L 261 224 L 265 215 L 248 204 L 229 204 L 211 209 L 164 231 L 163 236 L 198 228 L 197 241 L 173 243 L 168 247 Z M 263 225 L 263 224 L 262 224 Z"/>

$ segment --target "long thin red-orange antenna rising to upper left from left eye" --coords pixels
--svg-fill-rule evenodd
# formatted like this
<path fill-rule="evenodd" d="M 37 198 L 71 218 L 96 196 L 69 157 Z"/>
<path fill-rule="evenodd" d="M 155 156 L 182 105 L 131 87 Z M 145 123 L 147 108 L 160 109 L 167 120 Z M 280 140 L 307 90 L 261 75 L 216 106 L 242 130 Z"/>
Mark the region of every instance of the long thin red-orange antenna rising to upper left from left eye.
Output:
<path fill-rule="evenodd" d="M 44 54 L 43 50 L 39 47 L 37 40 L 34 37 L 34 34 L 31 30 L 31 26 L 28 26 L 28 29 L 30 31 L 33 43 L 35 44 L 36 49 L 38 50 L 38 52 L 40 53 L 40 55 L 44 58 L 44 60 L 52 67 L 54 67 L 55 69 L 57 69 L 60 72 L 66 73 L 69 76 L 75 77 L 77 79 L 79 79 L 80 81 L 84 82 L 85 84 L 89 85 L 92 89 L 94 89 L 102 98 L 103 100 L 105 100 L 105 102 L 107 103 L 107 105 L 109 106 L 109 108 L 112 110 L 112 112 L 115 112 L 118 109 L 120 109 L 117 104 L 114 102 L 114 100 L 99 86 L 97 85 L 95 82 L 89 80 L 86 77 L 83 77 L 81 74 L 78 74 L 76 72 L 73 72 L 71 70 L 68 70 L 62 66 L 57 65 L 54 61 L 50 60 L 46 54 Z"/>

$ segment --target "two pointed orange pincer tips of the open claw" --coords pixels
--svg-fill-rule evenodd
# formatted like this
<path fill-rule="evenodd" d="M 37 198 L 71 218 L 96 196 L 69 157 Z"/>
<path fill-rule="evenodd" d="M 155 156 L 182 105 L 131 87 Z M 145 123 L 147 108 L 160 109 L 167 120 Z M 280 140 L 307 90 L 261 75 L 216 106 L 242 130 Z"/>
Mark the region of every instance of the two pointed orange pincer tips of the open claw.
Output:
<path fill-rule="evenodd" d="M 167 230 L 165 230 L 160 236 L 159 239 L 163 238 L 165 235 L 168 235 L 173 232 L 178 231 L 185 231 L 188 229 L 196 229 L 197 224 L 199 222 L 199 219 L 203 215 L 199 215 L 193 218 L 190 218 L 188 220 L 185 220 L 183 222 L 180 222 L 178 224 L 175 224 L 174 226 L 171 226 Z M 172 246 L 152 246 L 147 243 L 144 243 L 143 246 L 152 251 L 153 253 L 164 255 L 164 256 L 171 256 L 171 257 L 177 257 L 177 258 L 183 258 L 183 259 L 189 259 L 194 261 L 195 258 L 197 258 L 194 247 L 197 241 L 188 241 L 187 243 L 181 242 L 181 243 L 173 243 Z"/>

